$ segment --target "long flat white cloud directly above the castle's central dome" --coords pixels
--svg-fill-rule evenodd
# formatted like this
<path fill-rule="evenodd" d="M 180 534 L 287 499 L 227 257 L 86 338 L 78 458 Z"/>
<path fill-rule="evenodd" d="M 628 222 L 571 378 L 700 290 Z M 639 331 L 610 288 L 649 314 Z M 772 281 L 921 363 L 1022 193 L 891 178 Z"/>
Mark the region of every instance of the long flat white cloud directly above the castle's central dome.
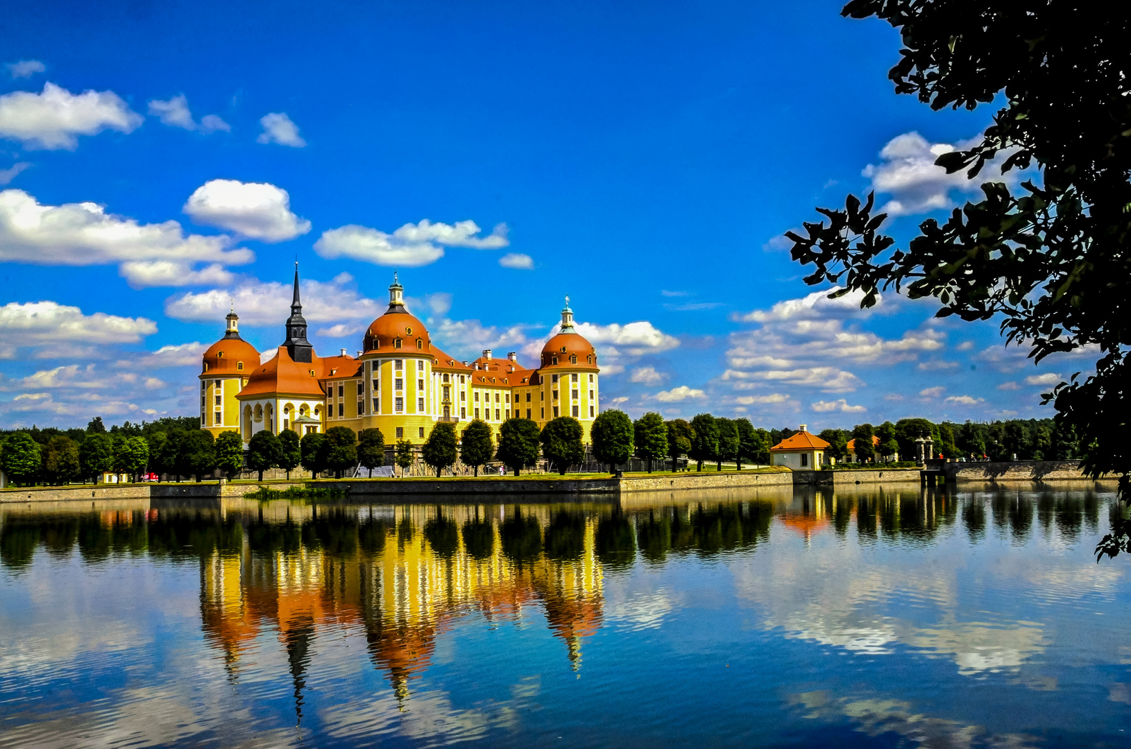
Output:
<path fill-rule="evenodd" d="M 392 234 L 354 224 L 323 232 L 314 243 L 314 251 L 327 259 L 351 258 L 377 265 L 417 268 L 434 263 L 443 256 L 443 247 L 474 247 L 495 250 L 506 247 L 507 225 L 499 224 L 487 236 L 478 236 L 475 221 L 455 224 L 405 224 Z"/>

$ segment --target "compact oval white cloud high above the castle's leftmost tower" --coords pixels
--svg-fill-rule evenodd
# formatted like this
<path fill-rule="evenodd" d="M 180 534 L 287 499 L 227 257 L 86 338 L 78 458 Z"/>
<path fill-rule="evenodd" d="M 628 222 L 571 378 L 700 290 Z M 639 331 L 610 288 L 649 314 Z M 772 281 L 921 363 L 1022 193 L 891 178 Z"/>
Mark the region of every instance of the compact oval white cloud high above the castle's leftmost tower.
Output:
<path fill-rule="evenodd" d="M 287 191 L 266 182 L 209 180 L 189 195 L 183 210 L 197 224 L 264 242 L 293 239 L 310 230 L 310 221 L 291 212 Z"/>

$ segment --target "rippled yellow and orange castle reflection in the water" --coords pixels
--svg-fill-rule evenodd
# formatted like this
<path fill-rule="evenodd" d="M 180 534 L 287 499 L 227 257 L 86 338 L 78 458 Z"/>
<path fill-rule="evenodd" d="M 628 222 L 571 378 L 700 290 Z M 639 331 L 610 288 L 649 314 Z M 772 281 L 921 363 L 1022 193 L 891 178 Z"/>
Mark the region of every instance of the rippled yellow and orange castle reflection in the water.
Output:
<path fill-rule="evenodd" d="M 283 517 L 271 519 L 273 510 Z M 288 503 L 256 513 L 242 548 L 201 559 L 204 628 L 235 674 L 241 652 L 276 627 L 300 715 L 308 652 L 326 627 L 363 628 L 370 657 L 403 700 L 437 635 L 469 611 L 518 620 L 541 606 L 573 669 L 582 639 L 601 626 L 597 521 L 581 513 L 517 507 L 495 522 L 497 506 L 319 511 Z"/>

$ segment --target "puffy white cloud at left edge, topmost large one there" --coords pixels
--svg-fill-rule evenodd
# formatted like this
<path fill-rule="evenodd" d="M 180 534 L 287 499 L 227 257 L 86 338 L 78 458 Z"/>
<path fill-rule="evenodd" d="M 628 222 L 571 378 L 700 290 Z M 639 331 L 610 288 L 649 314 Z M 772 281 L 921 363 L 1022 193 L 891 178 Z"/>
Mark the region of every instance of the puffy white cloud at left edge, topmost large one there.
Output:
<path fill-rule="evenodd" d="M 11 92 L 0 96 L 0 137 L 18 140 L 24 148 L 75 149 L 78 136 L 107 129 L 129 133 L 141 120 L 113 92 L 71 94 L 49 82 L 40 94 Z"/>

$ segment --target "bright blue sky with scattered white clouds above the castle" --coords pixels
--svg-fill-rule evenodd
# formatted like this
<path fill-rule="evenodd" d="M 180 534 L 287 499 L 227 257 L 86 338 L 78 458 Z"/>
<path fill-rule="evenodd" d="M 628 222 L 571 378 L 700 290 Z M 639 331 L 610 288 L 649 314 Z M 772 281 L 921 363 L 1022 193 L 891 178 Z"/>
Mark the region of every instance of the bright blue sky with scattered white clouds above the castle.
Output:
<path fill-rule="evenodd" d="M 1045 416 L 1090 365 L 812 296 L 780 234 L 879 191 L 907 236 L 992 111 L 896 96 L 839 3 L 42 2 L 0 35 L 0 426 L 196 412 L 236 299 L 320 352 L 394 267 L 446 350 L 533 363 L 569 295 L 603 406 L 811 428 Z M 1010 175 L 1011 176 L 1011 175 Z"/>

